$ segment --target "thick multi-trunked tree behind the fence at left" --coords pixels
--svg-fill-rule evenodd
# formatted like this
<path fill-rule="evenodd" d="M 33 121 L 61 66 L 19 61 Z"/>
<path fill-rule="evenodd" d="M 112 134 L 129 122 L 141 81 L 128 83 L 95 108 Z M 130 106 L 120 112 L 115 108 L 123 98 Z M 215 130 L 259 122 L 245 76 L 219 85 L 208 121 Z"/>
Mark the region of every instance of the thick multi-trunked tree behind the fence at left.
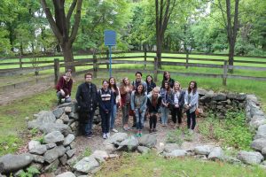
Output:
<path fill-rule="evenodd" d="M 72 45 L 77 35 L 81 20 L 82 0 L 73 0 L 67 13 L 65 12 L 65 0 L 53 0 L 52 3 L 55 13 L 54 19 L 46 0 L 41 0 L 46 18 L 48 19 L 51 29 L 58 39 L 59 45 L 63 51 L 64 61 L 66 63 L 72 62 L 74 61 Z M 70 20 L 74 9 L 74 23 L 71 25 Z M 74 66 L 71 66 L 70 68 L 74 72 Z"/>

